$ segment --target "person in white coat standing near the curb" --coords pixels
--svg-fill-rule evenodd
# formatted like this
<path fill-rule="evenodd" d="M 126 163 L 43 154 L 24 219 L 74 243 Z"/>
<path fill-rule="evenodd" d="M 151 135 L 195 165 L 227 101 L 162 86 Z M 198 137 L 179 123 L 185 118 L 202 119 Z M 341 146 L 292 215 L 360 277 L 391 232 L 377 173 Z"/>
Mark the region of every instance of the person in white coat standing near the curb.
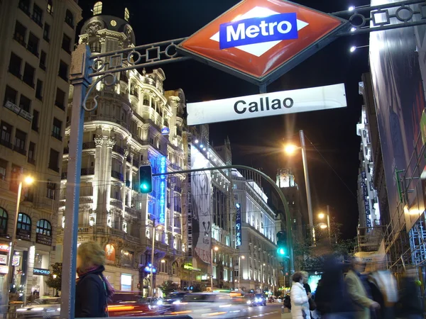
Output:
<path fill-rule="evenodd" d="M 291 317 L 293 319 L 310 319 L 309 299 L 311 293 L 306 293 L 303 287 L 303 274 L 295 272 L 293 274 L 293 286 L 290 290 Z"/>

